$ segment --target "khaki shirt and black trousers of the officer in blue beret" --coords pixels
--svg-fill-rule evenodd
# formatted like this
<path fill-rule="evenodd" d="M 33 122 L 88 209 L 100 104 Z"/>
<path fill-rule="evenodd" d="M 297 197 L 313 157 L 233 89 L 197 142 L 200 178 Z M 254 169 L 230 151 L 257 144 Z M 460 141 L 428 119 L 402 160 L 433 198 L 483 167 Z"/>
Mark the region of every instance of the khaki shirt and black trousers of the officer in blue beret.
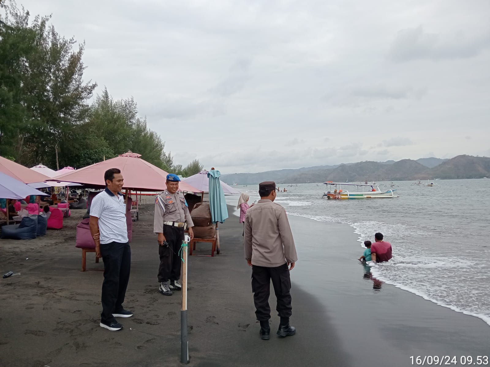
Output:
<path fill-rule="evenodd" d="M 168 246 L 158 245 L 160 267 L 158 281 L 178 280 L 181 260 L 179 250 L 184 240 L 184 230 L 194 227 L 184 195 L 165 190 L 155 200 L 153 232 L 163 233 Z"/>

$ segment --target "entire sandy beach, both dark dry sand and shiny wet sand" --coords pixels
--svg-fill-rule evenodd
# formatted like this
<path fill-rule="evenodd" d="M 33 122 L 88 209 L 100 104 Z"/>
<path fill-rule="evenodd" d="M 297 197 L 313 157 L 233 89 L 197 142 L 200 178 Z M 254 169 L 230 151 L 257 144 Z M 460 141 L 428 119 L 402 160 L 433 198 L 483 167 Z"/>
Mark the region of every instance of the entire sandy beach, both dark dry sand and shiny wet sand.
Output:
<path fill-rule="evenodd" d="M 229 207 L 230 214 L 234 209 Z M 30 241 L 0 240 L 0 365 L 8 367 L 179 366 L 180 294 L 157 292 L 153 207 L 140 207 L 131 243 L 124 329 L 98 326 L 102 262 L 74 248 L 83 210 L 65 227 Z M 243 256 L 242 226 L 220 226 L 221 254 L 198 244 L 189 260 L 190 366 L 411 366 L 410 356 L 488 355 L 483 321 L 373 281 L 356 258 L 361 249 L 346 225 L 290 216 L 299 261 L 293 281 L 294 337 L 258 337 Z M 373 289 L 374 285 L 374 289 Z M 270 298 L 271 330 L 279 318 Z M 374 352 L 379 350 L 379 352 Z"/>

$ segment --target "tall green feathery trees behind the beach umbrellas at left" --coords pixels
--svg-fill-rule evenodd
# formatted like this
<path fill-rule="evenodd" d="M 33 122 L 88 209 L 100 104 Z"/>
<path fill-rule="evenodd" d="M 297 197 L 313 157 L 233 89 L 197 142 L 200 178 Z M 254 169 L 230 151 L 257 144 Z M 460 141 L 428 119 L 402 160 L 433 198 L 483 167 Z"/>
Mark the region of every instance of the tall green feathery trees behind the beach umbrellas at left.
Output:
<path fill-rule="evenodd" d="M 0 156 L 25 166 L 80 168 L 127 151 L 165 171 L 191 176 L 203 166 L 176 165 L 165 142 L 148 129 L 130 97 L 85 82 L 85 43 L 58 34 L 50 16 L 0 0 Z"/>

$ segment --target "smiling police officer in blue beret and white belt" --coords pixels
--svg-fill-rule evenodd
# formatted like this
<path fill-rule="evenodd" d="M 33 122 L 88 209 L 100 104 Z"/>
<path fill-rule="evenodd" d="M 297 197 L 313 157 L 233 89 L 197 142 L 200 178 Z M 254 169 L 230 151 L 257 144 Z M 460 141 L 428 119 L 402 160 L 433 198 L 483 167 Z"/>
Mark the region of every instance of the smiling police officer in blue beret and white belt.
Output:
<path fill-rule="evenodd" d="M 155 218 L 153 231 L 158 234 L 158 291 L 165 296 L 172 296 L 173 291 L 182 290 L 179 282 L 180 260 L 179 250 L 184 240 L 184 230 L 189 228 L 191 240 L 194 238 L 191 215 L 184 195 L 177 192 L 180 179 L 177 175 L 167 175 L 167 190 L 155 200 Z M 187 222 L 187 223 L 186 223 Z M 169 283 L 170 280 L 170 283 Z"/>

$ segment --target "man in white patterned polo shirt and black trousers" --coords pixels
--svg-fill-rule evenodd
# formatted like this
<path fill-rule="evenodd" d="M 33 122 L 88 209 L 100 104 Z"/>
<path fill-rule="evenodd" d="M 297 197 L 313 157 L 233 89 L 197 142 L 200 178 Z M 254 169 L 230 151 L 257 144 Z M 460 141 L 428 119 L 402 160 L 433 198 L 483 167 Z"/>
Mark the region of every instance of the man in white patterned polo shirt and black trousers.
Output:
<path fill-rule="evenodd" d="M 126 204 L 121 194 L 121 170 L 108 169 L 104 180 L 107 187 L 94 197 L 90 206 L 90 233 L 96 244 L 96 256 L 104 261 L 100 326 L 116 331 L 123 328 L 116 317 L 133 316 L 132 312 L 123 309 L 131 248 L 127 238 Z"/>

